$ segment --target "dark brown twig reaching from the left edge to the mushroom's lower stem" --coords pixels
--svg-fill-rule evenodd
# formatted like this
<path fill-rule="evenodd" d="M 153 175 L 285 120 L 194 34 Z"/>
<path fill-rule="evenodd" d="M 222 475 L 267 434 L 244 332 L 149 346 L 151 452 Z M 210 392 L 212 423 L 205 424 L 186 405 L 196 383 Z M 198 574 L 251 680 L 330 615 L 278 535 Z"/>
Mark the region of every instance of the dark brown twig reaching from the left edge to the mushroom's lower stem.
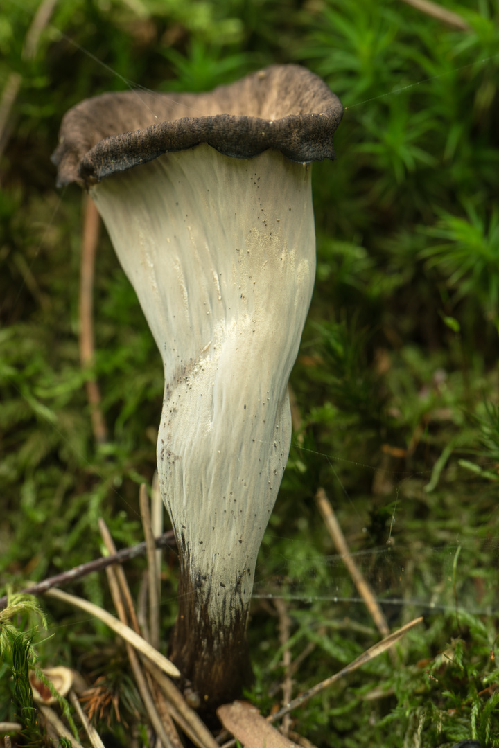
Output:
<path fill-rule="evenodd" d="M 155 539 L 156 548 L 171 548 L 176 545 L 174 531 L 167 530 L 159 538 Z M 138 545 L 132 545 L 132 548 L 122 548 L 121 551 L 117 551 L 115 554 L 105 558 L 95 559 L 94 561 L 88 561 L 82 563 L 79 566 L 70 568 L 68 571 L 61 571 L 61 574 L 55 574 L 54 577 L 48 577 L 41 582 L 31 584 L 24 589 L 20 589 L 16 594 L 18 595 L 42 595 L 47 589 L 52 587 L 62 587 L 65 584 L 73 582 L 76 579 L 86 577 L 87 574 L 91 574 L 92 571 L 101 571 L 107 566 L 113 564 L 121 564 L 125 561 L 135 559 L 138 556 L 144 556 L 147 552 L 145 542 L 138 543 Z M 0 610 L 7 605 L 7 595 L 0 598 Z"/>

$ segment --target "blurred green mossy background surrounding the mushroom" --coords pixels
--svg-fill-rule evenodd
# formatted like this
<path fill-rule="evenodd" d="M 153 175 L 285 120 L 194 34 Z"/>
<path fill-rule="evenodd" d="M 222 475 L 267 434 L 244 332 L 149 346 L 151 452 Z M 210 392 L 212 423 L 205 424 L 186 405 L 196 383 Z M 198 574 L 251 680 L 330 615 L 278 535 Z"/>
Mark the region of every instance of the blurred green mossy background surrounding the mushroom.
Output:
<path fill-rule="evenodd" d="M 316 289 L 291 378 L 290 461 L 257 567 L 252 698 L 265 712 L 282 673 L 272 595 L 287 601 L 293 657 L 310 645 L 294 695 L 378 638 L 317 512 L 319 487 L 391 625 L 425 622 L 397 666 L 380 658 L 296 713 L 318 747 L 499 746 L 499 7 L 439 7 L 444 20 L 402 0 L 1 2 L 3 586 L 97 557 L 101 515 L 119 545 L 141 541 L 138 484 L 155 469 L 161 361 L 104 230 L 96 360 L 80 364 L 83 197 L 55 189 L 50 162 L 64 112 L 103 91 L 205 91 L 288 62 L 343 101 L 337 161 L 313 166 Z M 142 568 L 129 570 L 136 586 Z M 102 575 L 74 589 L 111 605 Z M 132 714 L 105 628 L 44 607 L 42 664 L 105 672 Z M 13 714 L 9 656 L 0 720 Z"/>

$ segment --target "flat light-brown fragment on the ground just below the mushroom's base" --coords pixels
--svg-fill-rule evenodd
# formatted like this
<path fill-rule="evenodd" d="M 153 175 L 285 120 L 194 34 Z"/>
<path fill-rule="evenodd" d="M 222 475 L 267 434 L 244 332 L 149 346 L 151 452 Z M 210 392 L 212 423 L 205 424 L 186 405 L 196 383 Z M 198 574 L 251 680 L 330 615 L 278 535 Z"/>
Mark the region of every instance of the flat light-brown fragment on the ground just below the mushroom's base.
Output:
<path fill-rule="evenodd" d="M 275 727 L 250 704 L 233 702 L 217 709 L 218 719 L 245 748 L 299 748 L 284 738 Z"/>

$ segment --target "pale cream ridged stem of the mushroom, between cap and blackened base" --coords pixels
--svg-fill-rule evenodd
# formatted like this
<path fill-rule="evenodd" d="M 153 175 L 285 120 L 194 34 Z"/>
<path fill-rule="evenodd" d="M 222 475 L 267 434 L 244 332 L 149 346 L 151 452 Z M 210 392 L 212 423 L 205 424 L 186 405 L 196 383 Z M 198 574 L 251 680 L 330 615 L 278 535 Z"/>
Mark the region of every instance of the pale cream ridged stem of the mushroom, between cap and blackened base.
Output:
<path fill-rule="evenodd" d="M 162 497 L 227 628 L 234 598 L 251 598 L 290 448 L 287 381 L 315 275 L 310 171 L 201 144 L 91 194 L 163 358 Z"/>

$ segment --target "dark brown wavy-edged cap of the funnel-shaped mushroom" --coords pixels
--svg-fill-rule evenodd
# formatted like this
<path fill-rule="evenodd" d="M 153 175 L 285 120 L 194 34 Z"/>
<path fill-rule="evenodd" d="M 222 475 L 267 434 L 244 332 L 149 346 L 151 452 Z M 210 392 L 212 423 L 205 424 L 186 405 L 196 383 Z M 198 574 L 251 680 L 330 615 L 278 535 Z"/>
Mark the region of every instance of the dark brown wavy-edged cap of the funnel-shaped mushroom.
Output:
<path fill-rule="evenodd" d="M 334 159 L 340 99 L 298 65 L 273 65 L 209 93 L 104 93 L 64 115 L 52 155 L 58 186 L 90 185 L 162 153 L 207 143 L 247 159 L 268 148 L 297 162 Z"/>

